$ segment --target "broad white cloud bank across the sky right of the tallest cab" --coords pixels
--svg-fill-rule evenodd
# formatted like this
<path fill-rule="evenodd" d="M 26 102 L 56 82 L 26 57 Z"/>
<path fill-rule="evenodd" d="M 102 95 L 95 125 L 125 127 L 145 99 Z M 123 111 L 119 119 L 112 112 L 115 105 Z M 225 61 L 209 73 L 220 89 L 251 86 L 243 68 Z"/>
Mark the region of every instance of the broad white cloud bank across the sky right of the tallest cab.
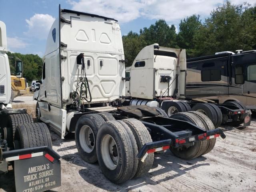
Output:
<path fill-rule="evenodd" d="M 255 3 L 255 0 L 246 1 Z M 177 22 L 192 14 L 208 16 L 214 8 L 225 2 L 226 0 L 68 0 L 73 10 L 115 18 L 121 23 L 139 17 Z M 240 0 L 231 2 L 241 4 Z"/>

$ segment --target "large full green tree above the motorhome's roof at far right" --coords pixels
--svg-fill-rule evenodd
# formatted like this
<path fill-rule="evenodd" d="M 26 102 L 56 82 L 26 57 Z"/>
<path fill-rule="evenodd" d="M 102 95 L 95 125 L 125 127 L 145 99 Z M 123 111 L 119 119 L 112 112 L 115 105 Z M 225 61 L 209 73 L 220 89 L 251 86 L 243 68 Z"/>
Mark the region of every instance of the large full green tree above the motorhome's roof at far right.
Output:
<path fill-rule="evenodd" d="M 213 10 L 195 36 L 196 56 L 255 47 L 255 10 L 244 3 L 233 5 L 227 1 Z M 254 22 L 253 22 L 254 17 Z M 254 25 L 254 26 L 253 26 Z"/>

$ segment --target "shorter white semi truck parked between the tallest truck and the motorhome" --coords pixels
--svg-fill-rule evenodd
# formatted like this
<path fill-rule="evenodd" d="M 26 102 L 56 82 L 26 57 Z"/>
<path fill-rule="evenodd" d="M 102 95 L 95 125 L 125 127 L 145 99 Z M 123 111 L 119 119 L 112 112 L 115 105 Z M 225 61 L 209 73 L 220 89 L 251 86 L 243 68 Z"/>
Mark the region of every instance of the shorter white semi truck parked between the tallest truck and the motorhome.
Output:
<path fill-rule="evenodd" d="M 153 44 L 144 47 L 126 68 L 128 105 L 160 107 L 170 117 L 177 112 L 198 111 L 214 126 L 250 125 L 251 111 L 240 102 L 217 104 L 206 98 L 189 98 L 186 92 L 186 52 Z M 243 126 L 240 126 L 240 124 Z"/>

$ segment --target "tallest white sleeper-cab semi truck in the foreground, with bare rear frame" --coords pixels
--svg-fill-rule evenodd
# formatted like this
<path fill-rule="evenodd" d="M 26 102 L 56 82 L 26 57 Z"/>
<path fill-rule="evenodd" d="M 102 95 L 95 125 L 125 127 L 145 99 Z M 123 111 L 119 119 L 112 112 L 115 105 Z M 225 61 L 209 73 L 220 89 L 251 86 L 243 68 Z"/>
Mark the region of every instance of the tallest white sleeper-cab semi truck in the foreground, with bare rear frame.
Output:
<path fill-rule="evenodd" d="M 148 54 L 154 56 L 153 47 Z M 173 53 L 167 48 L 162 54 L 177 55 L 167 60 L 183 62 L 180 74 L 184 78 L 184 50 Z M 144 71 L 143 76 L 153 72 Z M 154 106 L 126 106 L 125 79 L 117 20 L 59 6 L 59 17 L 47 39 L 41 87 L 34 93 L 36 115 L 61 138 L 74 132 L 83 160 L 98 161 L 109 180 L 121 183 L 148 172 L 154 152 L 170 148 L 176 156 L 191 159 L 210 152 L 216 137 L 225 138 L 222 130 L 198 112 L 168 118 Z M 156 95 L 150 86 L 141 86 L 140 93 Z M 184 88 L 176 94 L 182 96 Z"/>

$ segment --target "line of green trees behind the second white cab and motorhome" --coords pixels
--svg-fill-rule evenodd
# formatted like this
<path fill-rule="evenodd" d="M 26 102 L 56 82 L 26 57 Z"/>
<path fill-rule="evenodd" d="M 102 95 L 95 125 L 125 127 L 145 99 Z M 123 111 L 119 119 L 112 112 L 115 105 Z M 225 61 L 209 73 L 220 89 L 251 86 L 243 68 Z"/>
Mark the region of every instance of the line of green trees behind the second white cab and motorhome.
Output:
<path fill-rule="evenodd" d="M 158 20 L 140 33 L 130 31 L 122 36 L 124 56 L 131 66 L 142 48 L 158 43 L 160 46 L 185 48 L 187 58 L 215 54 L 215 52 L 256 50 L 256 4 L 231 4 L 227 1 L 212 10 L 204 22 L 200 15 L 184 18 L 179 32 L 174 25 Z"/>

